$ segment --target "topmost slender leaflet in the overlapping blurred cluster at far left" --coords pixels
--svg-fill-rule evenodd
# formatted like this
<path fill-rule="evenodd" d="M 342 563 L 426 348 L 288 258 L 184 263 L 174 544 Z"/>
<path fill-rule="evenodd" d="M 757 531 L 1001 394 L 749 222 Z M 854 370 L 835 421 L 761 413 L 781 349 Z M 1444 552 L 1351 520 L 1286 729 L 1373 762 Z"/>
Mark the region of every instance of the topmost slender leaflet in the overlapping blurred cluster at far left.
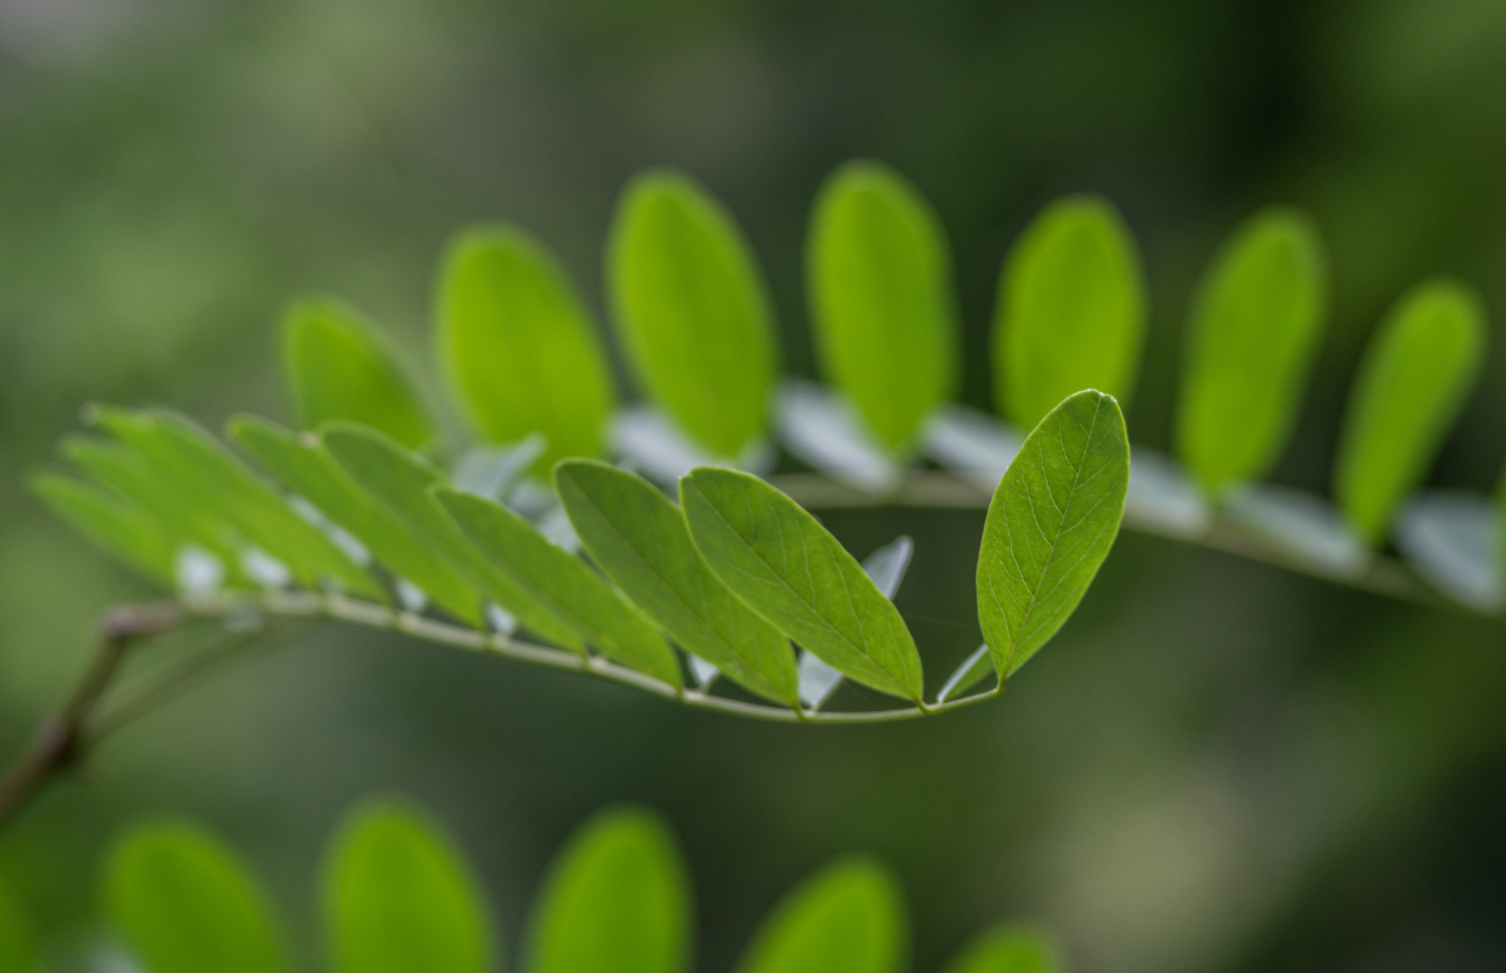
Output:
<path fill-rule="evenodd" d="M 386 600 L 376 580 L 355 565 L 235 456 L 188 420 L 163 411 L 96 408 L 95 421 L 140 450 L 161 475 L 220 514 L 241 535 L 282 561 L 309 588 L 334 579 L 354 594 Z"/>

